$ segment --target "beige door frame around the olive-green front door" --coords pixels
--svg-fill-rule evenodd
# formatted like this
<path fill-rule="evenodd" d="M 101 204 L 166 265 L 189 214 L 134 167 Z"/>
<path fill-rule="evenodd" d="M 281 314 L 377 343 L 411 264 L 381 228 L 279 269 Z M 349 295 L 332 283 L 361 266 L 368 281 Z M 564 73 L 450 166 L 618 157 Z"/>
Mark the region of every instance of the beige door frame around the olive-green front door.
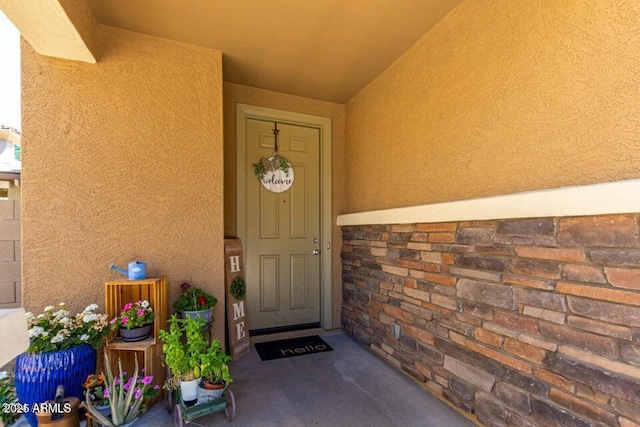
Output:
<path fill-rule="evenodd" d="M 236 104 L 236 196 L 238 237 L 246 242 L 246 155 L 247 119 L 316 128 L 320 131 L 320 325 L 333 328 L 331 283 L 331 119 L 310 114 Z M 245 267 L 246 268 L 246 267 Z M 249 316 L 251 314 L 249 313 Z"/>

